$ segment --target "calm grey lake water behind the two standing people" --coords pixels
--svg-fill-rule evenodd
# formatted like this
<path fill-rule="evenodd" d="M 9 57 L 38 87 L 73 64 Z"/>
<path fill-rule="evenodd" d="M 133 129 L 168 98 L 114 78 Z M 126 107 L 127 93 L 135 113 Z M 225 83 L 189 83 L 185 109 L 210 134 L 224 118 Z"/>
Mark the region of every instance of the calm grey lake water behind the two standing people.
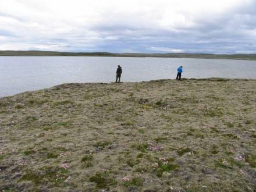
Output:
<path fill-rule="evenodd" d="M 122 81 L 226 77 L 256 79 L 256 61 L 177 58 L 0 56 L 0 97 L 62 83 L 109 83 L 122 66 Z"/>

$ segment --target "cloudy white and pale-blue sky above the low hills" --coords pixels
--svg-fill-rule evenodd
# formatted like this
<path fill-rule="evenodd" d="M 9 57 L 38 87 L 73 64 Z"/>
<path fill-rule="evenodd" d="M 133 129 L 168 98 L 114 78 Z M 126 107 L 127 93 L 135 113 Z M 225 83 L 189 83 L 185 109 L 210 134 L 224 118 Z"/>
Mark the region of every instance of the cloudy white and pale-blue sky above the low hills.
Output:
<path fill-rule="evenodd" d="M 0 50 L 256 54 L 256 0 L 0 0 Z"/>

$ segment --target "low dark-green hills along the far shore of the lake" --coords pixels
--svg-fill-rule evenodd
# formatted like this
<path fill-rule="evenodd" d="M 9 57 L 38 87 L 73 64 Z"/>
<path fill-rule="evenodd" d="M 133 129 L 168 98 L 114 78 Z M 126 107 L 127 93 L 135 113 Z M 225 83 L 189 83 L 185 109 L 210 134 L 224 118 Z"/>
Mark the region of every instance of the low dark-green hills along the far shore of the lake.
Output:
<path fill-rule="evenodd" d="M 0 56 L 124 56 L 124 57 L 157 57 L 157 58 L 202 58 L 202 59 L 240 59 L 256 60 L 256 54 L 140 54 L 109 52 L 56 52 L 56 51 L 0 51 Z"/>

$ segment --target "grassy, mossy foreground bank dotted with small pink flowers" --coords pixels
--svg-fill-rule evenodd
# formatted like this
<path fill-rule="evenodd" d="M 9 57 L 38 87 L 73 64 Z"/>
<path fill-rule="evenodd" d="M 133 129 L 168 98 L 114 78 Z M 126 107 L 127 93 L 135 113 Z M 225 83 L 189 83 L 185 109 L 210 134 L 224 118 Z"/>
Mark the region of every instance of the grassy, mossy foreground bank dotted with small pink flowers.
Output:
<path fill-rule="evenodd" d="M 255 94 L 184 79 L 0 98 L 0 190 L 255 191 Z"/>

